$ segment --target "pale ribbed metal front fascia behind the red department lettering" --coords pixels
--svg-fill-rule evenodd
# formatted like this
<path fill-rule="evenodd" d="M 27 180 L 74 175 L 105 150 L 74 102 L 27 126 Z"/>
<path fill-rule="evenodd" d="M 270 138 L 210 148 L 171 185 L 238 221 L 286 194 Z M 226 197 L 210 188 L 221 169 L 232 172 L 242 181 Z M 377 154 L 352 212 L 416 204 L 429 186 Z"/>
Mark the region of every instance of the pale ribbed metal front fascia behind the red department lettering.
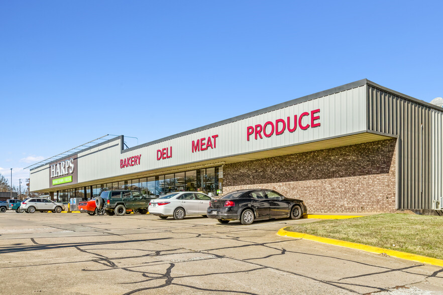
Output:
<path fill-rule="evenodd" d="M 293 124 L 294 115 L 297 115 L 298 119 L 302 112 L 310 112 L 315 109 L 320 109 L 320 126 L 306 130 L 297 127 L 294 132 L 285 131 L 280 135 L 263 136 L 263 138 L 257 140 L 252 135 L 251 139 L 247 140 L 247 126 L 263 125 L 267 121 L 275 122 L 276 119 L 286 120 L 288 116 L 291 117 L 291 124 Z M 311 123 L 308 121 L 308 117 L 304 117 L 302 121 L 303 124 Z M 141 146 L 139 149 L 123 151 L 123 153 L 121 153 L 118 139 L 107 142 L 78 154 L 78 182 L 84 183 L 234 155 L 247 155 L 365 131 L 366 86 L 363 85 L 196 131 L 195 133 Z M 215 134 L 218 135 L 215 149 L 192 153 L 192 140 L 196 141 Z M 157 150 L 170 146 L 172 146 L 173 157 L 158 161 L 156 157 Z M 140 165 L 120 168 L 121 159 L 136 155 L 142 155 Z M 49 186 L 49 172 L 47 170 L 45 178 L 42 182 L 45 186 L 39 186 L 36 190 L 42 190 Z"/>

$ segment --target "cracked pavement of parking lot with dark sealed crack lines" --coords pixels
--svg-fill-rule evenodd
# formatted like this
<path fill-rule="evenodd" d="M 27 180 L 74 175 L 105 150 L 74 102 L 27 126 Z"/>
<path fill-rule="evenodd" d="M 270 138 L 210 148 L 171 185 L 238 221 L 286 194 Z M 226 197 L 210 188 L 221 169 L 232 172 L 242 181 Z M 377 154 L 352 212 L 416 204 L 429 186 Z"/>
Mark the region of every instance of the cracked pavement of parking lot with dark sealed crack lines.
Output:
<path fill-rule="evenodd" d="M 0 214 L 1 293 L 443 293 L 441 267 L 278 236 L 314 220 L 244 226 L 151 215 Z"/>

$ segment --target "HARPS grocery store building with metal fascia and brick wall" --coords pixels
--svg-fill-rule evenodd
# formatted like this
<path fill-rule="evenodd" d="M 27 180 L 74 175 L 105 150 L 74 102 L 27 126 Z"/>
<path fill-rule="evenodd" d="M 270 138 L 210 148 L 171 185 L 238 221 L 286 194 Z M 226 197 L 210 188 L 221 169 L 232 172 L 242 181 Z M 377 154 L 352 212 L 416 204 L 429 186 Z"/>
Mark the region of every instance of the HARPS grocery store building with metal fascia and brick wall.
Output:
<path fill-rule="evenodd" d="M 309 212 L 443 208 L 443 108 L 367 79 L 131 148 L 124 140 L 33 165 L 31 191 L 67 202 L 118 188 L 266 188 Z"/>

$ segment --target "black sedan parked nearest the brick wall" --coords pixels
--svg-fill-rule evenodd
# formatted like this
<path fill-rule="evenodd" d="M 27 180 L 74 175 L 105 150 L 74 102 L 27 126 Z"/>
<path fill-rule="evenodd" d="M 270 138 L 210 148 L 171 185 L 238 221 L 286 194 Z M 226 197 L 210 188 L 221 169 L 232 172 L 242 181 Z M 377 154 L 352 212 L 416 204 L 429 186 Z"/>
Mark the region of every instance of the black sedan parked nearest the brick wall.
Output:
<path fill-rule="evenodd" d="M 240 220 L 251 224 L 254 220 L 271 218 L 299 219 L 306 214 L 303 201 L 286 198 L 276 191 L 265 189 L 240 190 L 211 200 L 206 215 L 219 223 Z"/>

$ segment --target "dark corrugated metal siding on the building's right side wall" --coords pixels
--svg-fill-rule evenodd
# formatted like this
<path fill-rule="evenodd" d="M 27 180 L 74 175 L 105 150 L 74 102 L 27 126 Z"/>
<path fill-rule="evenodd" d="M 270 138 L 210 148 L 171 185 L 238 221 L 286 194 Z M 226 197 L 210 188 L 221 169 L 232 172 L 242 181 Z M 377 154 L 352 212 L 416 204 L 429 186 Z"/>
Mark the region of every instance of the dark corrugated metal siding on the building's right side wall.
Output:
<path fill-rule="evenodd" d="M 433 209 L 431 138 L 436 130 L 431 113 L 435 110 L 369 84 L 367 91 L 368 129 L 398 136 L 399 209 Z"/>

